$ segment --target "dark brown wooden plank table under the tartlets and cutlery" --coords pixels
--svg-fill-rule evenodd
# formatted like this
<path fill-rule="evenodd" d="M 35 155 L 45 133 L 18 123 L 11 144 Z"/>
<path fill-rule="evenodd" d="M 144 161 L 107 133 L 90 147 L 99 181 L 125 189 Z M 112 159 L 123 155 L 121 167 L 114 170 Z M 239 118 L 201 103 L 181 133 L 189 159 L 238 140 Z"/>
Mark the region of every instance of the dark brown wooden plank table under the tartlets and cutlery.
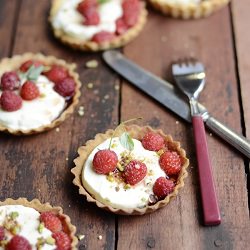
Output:
<path fill-rule="evenodd" d="M 62 206 L 85 235 L 79 249 L 249 249 L 249 160 L 208 131 L 222 224 L 202 226 L 191 126 L 111 71 L 101 53 L 76 52 L 57 42 L 47 22 L 49 6 L 46 0 L 0 0 L 0 57 L 32 51 L 76 62 L 83 83 L 79 105 L 85 114 L 76 110 L 59 130 L 39 135 L 0 134 L 0 199 L 38 198 Z M 248 0 L 234 0 L 213 16 L 194 21 L 166 18 L 149 9 L 143 32 L 122 51 L 169 81 L 173 60 L 201 60 L 207 70 L 201 102 L 216 118 L 250 137 L 249 13 Z M 99 67 L 86 69 L 90 59 L 97 59 Z M 87 88 L 89 82 L 93 89 Z M 191 161 L 189 176 L 167 207 L 145 216 L 116 216 L 78 195 L 70 169 L 80 145 L 138 116 L 181 141 Z"/>

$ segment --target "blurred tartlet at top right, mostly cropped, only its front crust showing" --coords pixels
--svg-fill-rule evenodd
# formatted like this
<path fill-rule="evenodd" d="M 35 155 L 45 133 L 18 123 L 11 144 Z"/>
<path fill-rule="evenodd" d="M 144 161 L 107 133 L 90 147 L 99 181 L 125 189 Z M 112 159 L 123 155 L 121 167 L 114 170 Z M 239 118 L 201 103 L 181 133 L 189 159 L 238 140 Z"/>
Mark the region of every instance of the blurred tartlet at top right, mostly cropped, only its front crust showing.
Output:
<path fill-rule="evenodd" d="M 148 0 L 148 2 L 163 14 L 190 19 L 210 16 L 226 6 L 230 0 Z"/>

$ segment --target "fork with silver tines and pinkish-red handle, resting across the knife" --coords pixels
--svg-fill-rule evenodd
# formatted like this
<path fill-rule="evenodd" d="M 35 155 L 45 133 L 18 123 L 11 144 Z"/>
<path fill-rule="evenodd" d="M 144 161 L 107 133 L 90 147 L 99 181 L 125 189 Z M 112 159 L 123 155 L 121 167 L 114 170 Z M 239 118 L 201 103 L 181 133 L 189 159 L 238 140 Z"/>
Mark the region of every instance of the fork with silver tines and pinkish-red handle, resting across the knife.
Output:
<path fill-rule="evenodd" d="M 172 73 L 178 87 L 189 98 L 196 157 L 199 170 L 199 180 L 205 225 L 219 225 L 221 223 L 212 167 L 208 154 L 206 133 L 202 114 L 198 108 L 198 96 L 205 86 L 205 70 L 200 62 L 185 61 L 172 65 Z"/>

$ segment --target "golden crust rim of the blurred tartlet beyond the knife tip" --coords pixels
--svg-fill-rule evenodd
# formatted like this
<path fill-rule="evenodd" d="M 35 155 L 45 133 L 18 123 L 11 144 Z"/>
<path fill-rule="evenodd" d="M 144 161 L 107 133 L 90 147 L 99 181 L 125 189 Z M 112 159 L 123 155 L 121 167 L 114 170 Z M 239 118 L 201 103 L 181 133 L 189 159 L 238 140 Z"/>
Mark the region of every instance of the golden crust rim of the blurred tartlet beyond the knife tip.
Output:
<path fill-rule="evenodd" d="M 62 0 L 53 0 L 51 3 L 51 9 L 50 9 L 50 16 L 49 16 L 49 22 L 51 24 L 54 36 L 58 38 L 63 44 L 70 46 L 73 49 L 76 50 L 82 50 L 82 51 L 102 51 L 102 50 L 108 50 L 108 49 L 114 49 L 121 47 L 131 40 L 133 40 L 143 29 L 146 20 L 147 20 L 147 11 L 145 8 L 145 3 L 141 3 L 141 11 L 138 18 L 137 24 L 130 28 L 125 34 L 118 36 L 114 40 L 110 42 L 104 42 L 101 44 L 98 44 L 96 42 L 92 41 L 81 41 L 77 38 L 70 37 L 63 33 L 59 29 L 55 29 L 52 25 L 52 19 L 53 16 L 56 14 L 58 8 L 60 7 Z"/>

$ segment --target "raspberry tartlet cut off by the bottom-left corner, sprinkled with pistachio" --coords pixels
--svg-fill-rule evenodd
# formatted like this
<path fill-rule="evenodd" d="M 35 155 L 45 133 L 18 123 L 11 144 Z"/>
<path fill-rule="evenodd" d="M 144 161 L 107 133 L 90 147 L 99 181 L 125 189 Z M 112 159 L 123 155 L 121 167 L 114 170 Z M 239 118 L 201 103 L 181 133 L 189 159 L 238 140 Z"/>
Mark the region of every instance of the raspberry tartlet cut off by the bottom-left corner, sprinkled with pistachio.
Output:
<path fill-rule="evenodd" d="M 61 207 L 37 199 L 0 201 L 0 249 L 76 249 L 75 233 Z"/>

